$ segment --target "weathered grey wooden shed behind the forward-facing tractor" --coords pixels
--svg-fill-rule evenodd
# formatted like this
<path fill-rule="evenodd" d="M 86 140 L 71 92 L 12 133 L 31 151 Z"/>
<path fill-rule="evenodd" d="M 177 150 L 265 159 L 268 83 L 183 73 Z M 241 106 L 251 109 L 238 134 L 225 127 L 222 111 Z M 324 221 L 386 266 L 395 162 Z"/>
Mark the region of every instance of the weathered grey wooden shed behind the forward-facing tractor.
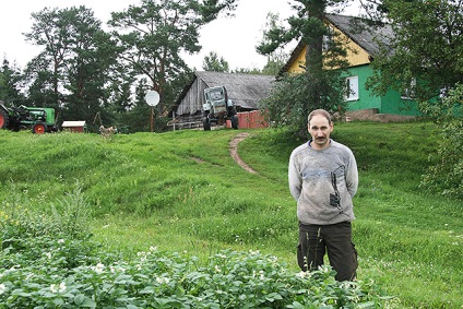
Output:
<path fill-rule="evenodd" d="M 269 96 L 275 78 L 269 75 L 197 71 L 175 103 L 175 121 L 202 122 L 204 90 L 215 86 L 227 88 L 228 98 L 238 112 L 257 110 L 259 102 Z"/>

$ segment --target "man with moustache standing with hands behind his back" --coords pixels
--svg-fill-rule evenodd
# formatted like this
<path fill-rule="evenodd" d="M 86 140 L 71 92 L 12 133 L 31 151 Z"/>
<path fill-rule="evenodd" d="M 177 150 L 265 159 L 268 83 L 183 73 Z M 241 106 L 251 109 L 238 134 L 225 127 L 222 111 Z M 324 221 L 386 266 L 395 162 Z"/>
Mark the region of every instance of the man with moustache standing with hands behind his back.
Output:
<path fill-rule="evenodd" d="M 335 278 L 353 281 L 358 266 L 351 226 L 357 164 L 347 146 L 330 139 L 333 122 L 327 110 L 313 110 L 308 122 L 311 140 L 293 151 L 288 168 L 299 219 L 298 264 L 302 271 L 317 270 L 328 251 Z"/>

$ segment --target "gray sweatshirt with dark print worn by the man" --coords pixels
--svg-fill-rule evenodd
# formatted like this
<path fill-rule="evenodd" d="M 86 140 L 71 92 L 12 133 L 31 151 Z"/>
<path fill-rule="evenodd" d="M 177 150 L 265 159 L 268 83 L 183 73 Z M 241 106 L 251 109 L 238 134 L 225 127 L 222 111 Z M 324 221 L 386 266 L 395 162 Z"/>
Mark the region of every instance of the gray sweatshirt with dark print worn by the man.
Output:
<path fill-rule="evenodd" d="M 357 163 L 345 145 L 331 140 L 324 150 L 312 148 L 310 142 L 298 146 L 289 157 L 288 181 L 302 224 L 355 219 L 352 198 L 358 187 Z"/>

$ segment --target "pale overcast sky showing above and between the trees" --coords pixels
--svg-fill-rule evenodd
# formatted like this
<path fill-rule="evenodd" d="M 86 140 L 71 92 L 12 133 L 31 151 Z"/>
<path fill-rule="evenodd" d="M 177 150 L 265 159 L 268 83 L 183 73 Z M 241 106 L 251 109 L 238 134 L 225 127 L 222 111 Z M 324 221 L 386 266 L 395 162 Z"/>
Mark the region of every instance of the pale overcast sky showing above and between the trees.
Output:
<path fill-rule="evenodd" d="M 121 12 L 139 0 L 13 0 L 2 1 L 0 9 L 0 59 L 4 57 L 12 63 L 24 68 L 35 57 L 39 48 L 26 43 L 23 33 L 32 27 L 31 13 L 44 8 L 71 8 L 85 5 L 94 11 L 103 24 L 110 19 L 111 12 Z M 219 19 L 201 29 L 199 55 L 185 57 L 191 69 L 201 70 L 205 55 L 217 52 L 230 69 L 262 69 L 266 58 L 256 52 L 256 45 L 262 39 L 262 29 L 269 12 L 278 13 L 281 19 L 292 15 L 288 0 L 239 0 L 234 17 Z M 352 7 L 346 14 L 356 14 Z"/>

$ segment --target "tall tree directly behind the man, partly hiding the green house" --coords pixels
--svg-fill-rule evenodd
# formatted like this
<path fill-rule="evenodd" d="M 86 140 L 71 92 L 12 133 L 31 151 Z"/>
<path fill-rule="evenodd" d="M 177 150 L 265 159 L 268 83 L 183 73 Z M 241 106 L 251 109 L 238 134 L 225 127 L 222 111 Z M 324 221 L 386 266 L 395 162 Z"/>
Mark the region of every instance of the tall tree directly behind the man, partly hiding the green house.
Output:
<path fill-rule="evenodd" d="M 344 80 L 342 71 L 347 62 L 343 60 L 346 52 L 335 40 L 335 34 L 324 24 L 327 7 L 342 5 L 346 0 L 295 0 L 293 8 L 297 16 L 290 16 L 289 28 L 278 24 L 275 15 L 270 15 L 263 40 L 257 47 L 258 52 L 269 55 L 277 48 L 297 39 L 307 46 L 305 76 L 285 76 L 272 92 L 263 108 L 276 124 L 290 124 L 296 133 L 307 133 L 307 115 L 311 109 L 325 108 L 330 111 L 343 107 L 342 94 Z M 323 38 L 330 37 L 328 50 L 323 48 Z M 295 86 L 298 90 L 286 88 Z M 284 99 L 285 93 L 294 93 L 292 99 Z M 282 97 L 283 96 L 283 97 Z M 281 100 L 284 99 L 284 100 Z M 283 122 L 278 122 L 278 121 Z"/>

